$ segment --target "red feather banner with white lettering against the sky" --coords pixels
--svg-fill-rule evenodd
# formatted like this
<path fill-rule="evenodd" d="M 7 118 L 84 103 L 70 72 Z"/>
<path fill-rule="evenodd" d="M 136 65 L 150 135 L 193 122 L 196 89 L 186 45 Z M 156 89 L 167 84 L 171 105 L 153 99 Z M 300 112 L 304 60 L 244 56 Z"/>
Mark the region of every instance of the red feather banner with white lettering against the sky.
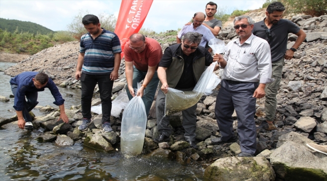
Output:
<path fill-rule="evenodd" d="M 153 0 L 122 0 L 115 33 L 119 37 L 122 53 L 129 37 L 141 29 Z"/>

